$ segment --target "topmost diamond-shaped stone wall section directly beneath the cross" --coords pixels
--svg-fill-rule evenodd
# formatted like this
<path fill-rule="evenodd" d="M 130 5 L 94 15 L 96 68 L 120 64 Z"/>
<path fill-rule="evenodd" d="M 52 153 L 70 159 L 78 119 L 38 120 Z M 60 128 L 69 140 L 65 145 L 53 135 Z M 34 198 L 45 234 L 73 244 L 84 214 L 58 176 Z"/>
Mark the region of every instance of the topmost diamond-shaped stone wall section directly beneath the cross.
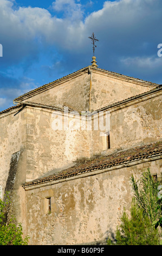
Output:
<path fill-rule="evenodd" d="M 22 95 L 18 100 L 95 111 L 154 88 L 155 84 L 149 82 L 89 67 Z"/>

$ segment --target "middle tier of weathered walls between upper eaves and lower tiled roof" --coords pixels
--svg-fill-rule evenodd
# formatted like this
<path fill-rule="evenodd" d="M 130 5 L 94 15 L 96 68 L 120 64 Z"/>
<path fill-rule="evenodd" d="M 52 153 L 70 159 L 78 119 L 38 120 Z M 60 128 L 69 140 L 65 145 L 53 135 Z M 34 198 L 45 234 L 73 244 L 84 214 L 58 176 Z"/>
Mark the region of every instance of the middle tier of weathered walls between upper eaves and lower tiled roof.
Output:
<path fill-rule="evenodd" d="M 161 138 L 161 96 L 154 93 L 125 105 L 107 109 L 110 112 L 110 154 Z M 18 111 L 18 110 L 17 110 Z M 55 120 L 64 116 L 48 108 L 26 106 L 22 111 L 1 115 L 1 186 L 5 188 L 12 154 L 24 150 L 27 181 L 67 168 L 77 159 L 101 154 L 107 148 L 100 129 L 55 129 Z M 105 112 L 106 113 L 106 112 Z M 68 124 L 81 121 L 79 115 L 67 115 Z M 65 117 L 66 119 L 66 117 Z M 93 118 L 92 118 L 93 119 Z M 105 128 L 109 131 L 109 128 Z M 104 132 L 103 132 L 104 133 Z M 3 190 L 4 192 L 4 190 Z"/>

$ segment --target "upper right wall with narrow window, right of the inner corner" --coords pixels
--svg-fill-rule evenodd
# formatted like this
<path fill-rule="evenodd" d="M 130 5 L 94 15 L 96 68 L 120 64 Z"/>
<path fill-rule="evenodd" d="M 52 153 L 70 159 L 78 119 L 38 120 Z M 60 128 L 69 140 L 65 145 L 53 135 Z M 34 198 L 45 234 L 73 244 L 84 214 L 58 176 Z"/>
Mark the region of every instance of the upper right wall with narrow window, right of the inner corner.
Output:
<path fill-rule="evenodd" d="M 161 92 L 142 99 L 106 109 L 103 118 L 109 113 L 109 127 L 103 121 L 105 131 L 109 131 L 110 149 L 107 149 L 105 131 L 90 133 L 91 156 L 111 154 L 115 150 L 137 147 L 138 145 L 159 141 L 162 137 Z"/>

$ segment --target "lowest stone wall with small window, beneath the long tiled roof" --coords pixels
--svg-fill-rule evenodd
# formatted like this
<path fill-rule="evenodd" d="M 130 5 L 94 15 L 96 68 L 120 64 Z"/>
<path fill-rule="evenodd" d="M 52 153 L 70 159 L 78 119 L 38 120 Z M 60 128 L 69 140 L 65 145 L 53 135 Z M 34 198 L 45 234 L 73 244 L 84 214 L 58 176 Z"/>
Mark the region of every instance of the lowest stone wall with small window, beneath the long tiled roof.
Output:
<path fill-rule="evenodd" d="M 161 160 L 136 161 L 25 188 L 31 245 L 75 245 L 114 234 L 124 207 L 131 206 L 131 175 L 138 179 L 150 167 L 160 175 Z M 51 198 L 51 211 L 48 198 Z"/>

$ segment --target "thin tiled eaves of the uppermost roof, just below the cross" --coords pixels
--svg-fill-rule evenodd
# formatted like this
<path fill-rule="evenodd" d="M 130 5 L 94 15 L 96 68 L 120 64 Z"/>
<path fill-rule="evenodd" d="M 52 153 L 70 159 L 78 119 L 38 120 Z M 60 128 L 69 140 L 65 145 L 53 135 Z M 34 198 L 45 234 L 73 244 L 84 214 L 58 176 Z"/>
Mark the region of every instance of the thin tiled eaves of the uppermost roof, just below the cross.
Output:
<path fill-rule="evenodd" d="M 144 81 L 144 80 L 141 80 L 141 79 L 139 79 L 139 78 L 134 78 L 134 77 L 130 77 L 130 76 L 118 74 L 118 73 L 116 73 L 116 72 L 108 71 L 108 70 L 105 70 L 105 69 L 95 68 L 95 67 L 93 67 L 93 66 L 87 66 L 86 68 L 82 68 L 82 69 L 80 69 L 80 70 L 77 70 L 77 71 L 73 72 L 72 74 L 69 74 L 69 75 L 67 75 L 67 76 L 63 76 L 62 78 L 59 78 L 59 79 L 57 79 L 57 80 L 55 80 L 55 81 L 53 81 L 53 82 L 50 82 L 50 83 L 48 83 L 48 84 L 44 84 L 44 85 L 41 86 L 41 87 L 38 87 L 38 88 L 36 88 L 36 89 L 34 89 L 34 90 L 31 90 L 30 92 L 25 93 L 25 94 L 23 94 L 23 95 L 17 97 L 14 101 L 16 101 L 16 100 L 22 100 L 24 97 L 29 97 L 29 96 L 31 96 L 31 95 L 34 95 L 34 94 L 37 93 L 37 92 L 41 92 L 42 90 L 49 89 L 49 88 L 55 86 L 58 82 L 61 82 L 61 81 L 63 81 L 63 80 L 67 80 L 67 79 L 71 78 L 71 77 L 74 76 L 74 75 L 79 75 L 79 74 L 81 74 L 82 72 L 88 71 L 89 68 L 90 68 L 91 70 L 95 70 L 95 71 L 99 71 L 99 72 L 106 72 L 106 74 L 109 74 L 109 75 L 118 76 L 118 77 L 120 77 L 120 78 L 125 78 L 125 79 L 127 79 L 127 80 L 129 80 L 129 81 L 131 80 L 132 82 L 133 82 L 133 81 L 134 81 L 134 82 L 140 82 L 140 83 L 144 84 L 145 86 L 151 86 L 151 87 L 158 87 L 158 86 L 159 86 L 159 84 L 152 83 L 152 82 L 148 82 L 148 81 Z"/>

